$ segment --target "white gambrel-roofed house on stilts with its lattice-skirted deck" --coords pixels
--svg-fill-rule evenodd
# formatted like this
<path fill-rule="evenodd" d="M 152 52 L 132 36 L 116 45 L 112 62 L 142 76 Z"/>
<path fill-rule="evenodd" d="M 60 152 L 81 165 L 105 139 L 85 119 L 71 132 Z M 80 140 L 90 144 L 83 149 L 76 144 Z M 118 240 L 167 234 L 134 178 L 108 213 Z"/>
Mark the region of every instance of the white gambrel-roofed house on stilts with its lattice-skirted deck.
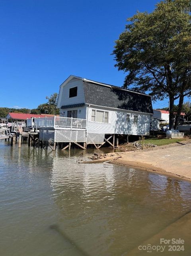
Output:
<path fill-rule="evenodd" d="M 54 119 L 54 135 L 50 125 L 41 126 L 41 139 L 52 133 L 54 142 L 102 145 L 106 135 L 150 132 L 151 97 L 121 87 L 70 75 L 60 85 L 57 107 L 60 117 Z"/>

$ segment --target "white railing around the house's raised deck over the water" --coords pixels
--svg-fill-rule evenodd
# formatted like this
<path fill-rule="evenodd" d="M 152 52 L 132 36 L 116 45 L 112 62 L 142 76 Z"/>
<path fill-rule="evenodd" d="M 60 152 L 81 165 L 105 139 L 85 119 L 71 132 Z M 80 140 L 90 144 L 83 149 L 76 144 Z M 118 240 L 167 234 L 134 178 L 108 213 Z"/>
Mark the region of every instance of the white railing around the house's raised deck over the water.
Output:
<path fill-rule="evenodd" d="M 27 119 L 27 127 L 53 127 L 53 128 L 86 128 L 86 119 L 72 118 L 72 117 L 39 117 L 34 118 L 34 124 L 32 124 L 32 119 Z"/>

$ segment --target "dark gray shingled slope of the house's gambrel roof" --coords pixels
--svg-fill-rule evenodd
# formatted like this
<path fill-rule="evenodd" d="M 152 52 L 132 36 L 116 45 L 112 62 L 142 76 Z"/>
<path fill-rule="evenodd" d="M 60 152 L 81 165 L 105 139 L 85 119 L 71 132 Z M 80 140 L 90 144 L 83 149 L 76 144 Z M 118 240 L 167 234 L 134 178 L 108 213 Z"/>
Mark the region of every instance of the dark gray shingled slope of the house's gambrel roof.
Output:
<path fill-rule="evenodd" d="M 116 86 L 104 86 L 83 80 L 85 103 L 153 113 L 151 97 L 129 90 L 122 90 Z"/>

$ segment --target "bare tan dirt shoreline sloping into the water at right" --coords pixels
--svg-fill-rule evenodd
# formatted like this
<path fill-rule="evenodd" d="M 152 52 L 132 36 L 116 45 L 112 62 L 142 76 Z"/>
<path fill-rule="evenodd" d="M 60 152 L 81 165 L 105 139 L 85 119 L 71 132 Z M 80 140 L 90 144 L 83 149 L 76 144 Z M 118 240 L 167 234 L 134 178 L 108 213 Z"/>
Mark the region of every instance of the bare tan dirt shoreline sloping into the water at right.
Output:
<path fill-rule="evenodd" d="M 191 143 L 174 143 L 151 150 L 109 153 L 103 159 L 83 163 L 108 162 L 191 182 L 190 152 Z"/>

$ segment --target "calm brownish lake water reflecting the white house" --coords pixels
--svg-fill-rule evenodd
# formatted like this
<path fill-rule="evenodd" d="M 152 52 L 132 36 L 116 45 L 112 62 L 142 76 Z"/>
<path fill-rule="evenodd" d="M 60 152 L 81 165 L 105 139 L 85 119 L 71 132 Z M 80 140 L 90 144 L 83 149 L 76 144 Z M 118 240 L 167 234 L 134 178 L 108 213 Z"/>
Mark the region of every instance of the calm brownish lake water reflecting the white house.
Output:
<path fill-rule="evenodd" d="M 1 256 L 133 255 L 133 248 L 191 210 L 191 183 L 78 163 L 92 152 L 18 149 L 0 141 Z M 188 233 L 181 238 L 190 239 Z M 190 252 L 188 243 L 178 255 Z"/>

